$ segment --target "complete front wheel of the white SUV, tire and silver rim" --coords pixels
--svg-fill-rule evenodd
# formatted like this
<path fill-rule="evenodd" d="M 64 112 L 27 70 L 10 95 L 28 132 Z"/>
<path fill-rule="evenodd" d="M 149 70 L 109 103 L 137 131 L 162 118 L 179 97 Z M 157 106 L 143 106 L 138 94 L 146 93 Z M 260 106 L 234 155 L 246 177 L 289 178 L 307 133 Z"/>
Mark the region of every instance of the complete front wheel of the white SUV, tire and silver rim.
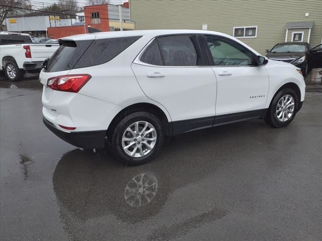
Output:
<path fill-rule="evenodd" d="M 298 101 L 298 96 L 293 89 L 281 89 L 270 104 L 265 122 L 275 128 L 286 127 L 295 117 Z"/>

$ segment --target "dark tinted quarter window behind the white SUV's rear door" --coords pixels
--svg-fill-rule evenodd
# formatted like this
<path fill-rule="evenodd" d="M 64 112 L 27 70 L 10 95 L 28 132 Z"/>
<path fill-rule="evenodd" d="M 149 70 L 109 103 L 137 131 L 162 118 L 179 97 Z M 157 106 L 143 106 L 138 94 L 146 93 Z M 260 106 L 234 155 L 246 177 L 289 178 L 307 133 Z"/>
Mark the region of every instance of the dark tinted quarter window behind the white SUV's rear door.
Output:
<path fill-rule="evenodd" d="M 104 64 L 114 59 L 139 38 L 141 36 L 94 40 L 74 68 Z"/>

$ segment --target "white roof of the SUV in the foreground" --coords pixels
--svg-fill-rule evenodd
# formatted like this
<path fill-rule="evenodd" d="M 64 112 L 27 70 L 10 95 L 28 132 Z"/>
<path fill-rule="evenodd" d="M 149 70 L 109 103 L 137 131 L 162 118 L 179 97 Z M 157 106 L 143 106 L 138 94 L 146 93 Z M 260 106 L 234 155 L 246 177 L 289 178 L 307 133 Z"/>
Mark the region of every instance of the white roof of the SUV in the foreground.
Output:
<path fill-rule="evenodd" d="M 204 30 L 130 30 L 130 31 L 113 31 L 113 32 L 99 32 L 92 34 L 78 34 L 61 38 L 62 40 L 91 40 L 91 39 L 104 39 L 104 38 L 121 38 L 131 36 L 158 36 L 168 34 L 216 34 L 220 36 L 227 36 L 223 33 Z"/>

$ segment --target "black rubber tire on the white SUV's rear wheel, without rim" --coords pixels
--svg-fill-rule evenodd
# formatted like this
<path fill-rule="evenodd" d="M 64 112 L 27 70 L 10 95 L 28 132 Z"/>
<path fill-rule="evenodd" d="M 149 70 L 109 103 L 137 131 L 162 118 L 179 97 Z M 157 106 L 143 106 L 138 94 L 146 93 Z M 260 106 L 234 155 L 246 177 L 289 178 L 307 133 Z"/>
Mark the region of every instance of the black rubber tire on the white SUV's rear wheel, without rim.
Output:
<path fill-rule="evenodd" d="M 142 157 L 129 156 L 122 147 L 122 137 L 125 130 L 135 122 L 148 122 L 156 131 L 156 142 L 152 150 Z M 153 114 L 145 111 L 137 111 L 125 116 L 120 123 L 116 126 L 113 135 L 112 142 L 110 143 L 110 150 L 113 154 L 121 159 L 128 165 L 140 165 L 151 161 L 156 153 L 162 148 L 164 142 L 164 130 L 160 120 Z"/>

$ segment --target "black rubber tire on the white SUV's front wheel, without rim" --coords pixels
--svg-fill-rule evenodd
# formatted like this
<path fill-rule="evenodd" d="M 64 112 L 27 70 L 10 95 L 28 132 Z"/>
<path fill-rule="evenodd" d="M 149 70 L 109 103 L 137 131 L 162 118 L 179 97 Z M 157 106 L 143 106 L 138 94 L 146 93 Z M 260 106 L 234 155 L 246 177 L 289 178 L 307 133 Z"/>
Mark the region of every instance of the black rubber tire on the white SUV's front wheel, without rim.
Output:
<path fill-rule="evenodd" d="M 276 115 L 276 108 L 277 108 L 277 104 L 278 101 L 282 98 L 282 96 L 289 94 L 293 97 L 294 99 L 294 110 L 293 110 L 293 114 L 292 116 L 285 122 L 281 122 Z M 297 94 L 295 93 L 295 91 L 291 88 L 284 88 L 279 90 L 275 96 L 272 99 L 272 102 L 270 104 L 270 107 L 267 111 L 266 117 L 265 117 L 265 122 L 275 128 L 281 128 L 281 127 L 286 127 L 287 125 L 289 125 L 297 112 L 298 109 L 298 103 L 299 103 L 299 96 L 297 96 Z"/>

